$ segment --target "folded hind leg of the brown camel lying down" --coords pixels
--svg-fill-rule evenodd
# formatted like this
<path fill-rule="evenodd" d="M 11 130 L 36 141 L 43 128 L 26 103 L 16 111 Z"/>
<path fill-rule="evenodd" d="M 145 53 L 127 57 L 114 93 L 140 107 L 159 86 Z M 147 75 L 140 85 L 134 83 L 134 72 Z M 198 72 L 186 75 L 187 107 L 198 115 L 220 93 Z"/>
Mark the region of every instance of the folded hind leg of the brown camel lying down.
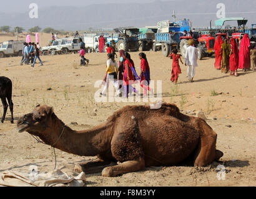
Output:
<path fill-rule="evenodd" d="M 217 134 L 212 128 L 201 119 L 199 121 L 199 127 L 202 133 L 200 134 L 199 146 L 195 152 L 194 165 L 204 167 L 214 160 L 219 160 L 223 153 L 219 150 L 215 150 Z"/>

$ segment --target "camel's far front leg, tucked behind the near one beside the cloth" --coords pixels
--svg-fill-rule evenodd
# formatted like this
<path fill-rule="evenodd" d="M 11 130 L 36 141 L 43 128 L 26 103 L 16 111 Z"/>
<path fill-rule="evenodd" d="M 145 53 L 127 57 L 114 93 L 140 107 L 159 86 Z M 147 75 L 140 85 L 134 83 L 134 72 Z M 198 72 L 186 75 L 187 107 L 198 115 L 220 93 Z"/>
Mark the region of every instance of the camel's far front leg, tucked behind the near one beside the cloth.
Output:
<path fill-rule="evenodd" d="M 74 167 L 76 172 L 84 172 L 86 174 L 96 174 L 102 171 L 105 167 L 113 165 L 111 164 L 111 160 L 101 160 L 96 159 L 92 162 L 85 162 L 82 164 L 77 164 Z"/>

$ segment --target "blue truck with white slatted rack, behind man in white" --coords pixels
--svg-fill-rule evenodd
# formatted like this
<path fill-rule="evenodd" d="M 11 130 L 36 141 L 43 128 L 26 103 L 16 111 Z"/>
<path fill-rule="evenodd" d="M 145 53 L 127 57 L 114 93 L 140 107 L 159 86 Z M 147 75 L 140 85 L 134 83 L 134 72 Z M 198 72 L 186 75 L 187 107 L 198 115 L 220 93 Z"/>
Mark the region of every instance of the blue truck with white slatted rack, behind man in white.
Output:
<path fill-rule="evenodd" d="M 170 22 L 169 20 L 157 22 L 157 33 L 155 33 L 152 49 L 154 51 L 162 49 L 163 55 L 167 57 L 172 49 L 180 49 L 180 37 L 184 37 L 184 30 L 189 32 L 189 29 L 189 19 L 177 22 Z"/>

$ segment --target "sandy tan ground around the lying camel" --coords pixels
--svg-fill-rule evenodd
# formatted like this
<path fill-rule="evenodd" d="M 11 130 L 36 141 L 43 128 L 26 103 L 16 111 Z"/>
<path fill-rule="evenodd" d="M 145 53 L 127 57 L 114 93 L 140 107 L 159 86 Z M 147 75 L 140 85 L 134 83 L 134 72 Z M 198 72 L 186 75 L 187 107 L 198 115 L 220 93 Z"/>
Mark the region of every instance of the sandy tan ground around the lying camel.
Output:
<path fill-rule="evenodd" d="M 1 38 L 0 42 L 2 40 L 5 39 Z M 137 54 L 131 53 L 131 56 L 139 71 Z M 172 61 L 161 52 L 146 54 L 151 79 L 162 80 L 162 100 L 177 104 L 185 114 L 204 111 L 207 123 L 218 134 L 217 149 L 222 150 L 224 156 L 221 162 L 207 167 L 149 167 L 116 178 L 101 177 L 100 173 L 87 175 L 87 186 L 255 186 L 256 73 L 239 71 L 240 76 L 229 76 L 214 69 L 214 58 L 204 58 L 196 68 L 194 83 L 187 80 L 186 67 L 181 65 L 179 84 L 173 85 L 170 82 Z M 94 93 L 99 88 L 94 88 L 94 83 L 104 77 L 106 53 L 90 53 L 86 57 L 89 65 L 80 67 L 77 54 L 42 56 L 44 67 L 37 63 L 34 70 L 27 65 L 20 66 L 20 57 L 0 59 L 1 75 L 11 78 L 13 83 L 15 123 L 37 104 L 47 104 L 53 106 L 57 116 L 72 129 L 89 129 L 127 104 L 149 104 L 97 103 Z M 212 93 L 217 95 L 211 96 Z M 91 114 L 95 108 L 96 116 Z M 37 165 L 39 172 L 54 169 L 51 147 L 37 143 L 27 132 L 17 133 L 16 124 L 9 120 L 8 110 L 6 121 L 0 124 L 0 172 L 29 172 L 30 165 Z M 69 175 L 77 175 L 74 164 L 95 159 L 57 149 L 56 154 L 57 168 Z M 225 166 L 225 180 L 217 180 L 219 164 Z"/>

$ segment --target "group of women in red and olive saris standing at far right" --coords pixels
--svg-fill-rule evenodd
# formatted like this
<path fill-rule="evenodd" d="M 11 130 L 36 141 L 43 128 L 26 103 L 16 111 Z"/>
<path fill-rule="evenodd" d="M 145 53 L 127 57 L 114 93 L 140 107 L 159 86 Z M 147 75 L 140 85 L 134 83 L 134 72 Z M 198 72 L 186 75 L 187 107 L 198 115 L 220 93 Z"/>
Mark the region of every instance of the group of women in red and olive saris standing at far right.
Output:
<path fill-rule="evenodd" d="M 230 75 L 238 76 L 238 68 L 244 72 L 249 71 L 251 62 L 253 70 L 255 70 L 255 47 L 250 49 L 250 39 L 247 34 L 240 40 L 240 49 L 237 40 L 233 37 L 230 40 L 225 38 L 223 41 L 219 35 L 215 41 L 214 50 L 214 66 L 217 70 L 221 69 L 223 73 L 230 70 Z"/>

